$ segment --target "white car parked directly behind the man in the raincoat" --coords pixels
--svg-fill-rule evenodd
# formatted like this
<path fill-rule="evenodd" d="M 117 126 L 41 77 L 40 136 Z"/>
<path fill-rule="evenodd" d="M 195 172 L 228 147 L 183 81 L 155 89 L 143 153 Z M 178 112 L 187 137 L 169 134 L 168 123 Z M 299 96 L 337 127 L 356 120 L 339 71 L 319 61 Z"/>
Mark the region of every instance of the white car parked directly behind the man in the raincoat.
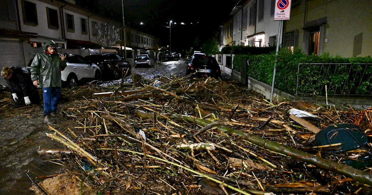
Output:
<path fill-rule="evenodd" d="M 68 54 L 67 67 L 61 71 L 61 79 L 69 87 L 76 87 L 78 81 L 101 79 L 101 70 L 96 64 L 86 61 L 83 56 Z"/>

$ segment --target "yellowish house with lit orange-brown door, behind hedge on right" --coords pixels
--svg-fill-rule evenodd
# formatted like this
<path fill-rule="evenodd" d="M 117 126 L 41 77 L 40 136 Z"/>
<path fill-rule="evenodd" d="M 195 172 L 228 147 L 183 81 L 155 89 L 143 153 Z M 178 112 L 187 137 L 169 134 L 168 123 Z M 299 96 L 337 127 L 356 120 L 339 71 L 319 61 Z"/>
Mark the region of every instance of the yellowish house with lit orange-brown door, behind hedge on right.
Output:
<path fill-rule="evenodd" d="M 372 55 L 370 0 L 296 0 L 285 22 L 283 47 L 301 48 L 309 55 Z"/>

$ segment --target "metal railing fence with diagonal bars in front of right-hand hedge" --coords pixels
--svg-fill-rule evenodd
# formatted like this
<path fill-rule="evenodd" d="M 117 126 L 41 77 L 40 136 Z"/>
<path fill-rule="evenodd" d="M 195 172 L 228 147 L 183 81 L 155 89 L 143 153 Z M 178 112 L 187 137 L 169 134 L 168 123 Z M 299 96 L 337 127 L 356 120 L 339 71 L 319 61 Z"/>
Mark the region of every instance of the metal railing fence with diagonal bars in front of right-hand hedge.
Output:
<path fill-rule="evenodd" d="M 371 78 L 372 64 L 299 63 L 296 95 L 372 95 Z"/>

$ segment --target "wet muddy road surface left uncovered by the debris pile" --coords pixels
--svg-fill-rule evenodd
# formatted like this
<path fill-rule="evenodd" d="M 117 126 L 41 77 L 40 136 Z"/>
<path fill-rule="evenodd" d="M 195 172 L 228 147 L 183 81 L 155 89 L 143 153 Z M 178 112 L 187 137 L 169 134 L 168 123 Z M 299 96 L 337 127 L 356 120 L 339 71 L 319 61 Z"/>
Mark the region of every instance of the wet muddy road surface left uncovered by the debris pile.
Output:
<path fill-rule="evenodd" d="M 132 74 L 140 74 L 143 78 L 156 76 L 184 77 L 185 61 L 169 61 L 156 64 L 154 68 L 132 68 Z M 226 77 L 226 76 L 225 76 Z M 132 79 L 127 77 L 126 83 Z M 118 81 L 99 82 L 100 85 L 117 85 Z M 64 94 L 64 91 L 66 94 Z M 56 129 L 74 127 L 76 121 L 65 117 L 63 109 L 67 109 L 68 90 L 62 89 L 58 105 L 59 117 L 53 125 Z M 42 96 L 41 96 L 42 97 Z M 81 97 L 83 98 L 83 97 Z M 9 92 L 0 92 L 0 194 L 26 195 L 34 194 L 29 190 L 32 185 L 25 171 L 36 182 L 44 177 L 62 172 L 64 167 L 58 165 L 58 158 L 53 155 L 39 155 L 38 149 L 64 149 L 57 141 L 51 140 L 45 133 L 54 133 L 43 124 L 42 105 L 31 105 L 15 108 Z M 63 157 L 63 156 L 62 156 Z"/>

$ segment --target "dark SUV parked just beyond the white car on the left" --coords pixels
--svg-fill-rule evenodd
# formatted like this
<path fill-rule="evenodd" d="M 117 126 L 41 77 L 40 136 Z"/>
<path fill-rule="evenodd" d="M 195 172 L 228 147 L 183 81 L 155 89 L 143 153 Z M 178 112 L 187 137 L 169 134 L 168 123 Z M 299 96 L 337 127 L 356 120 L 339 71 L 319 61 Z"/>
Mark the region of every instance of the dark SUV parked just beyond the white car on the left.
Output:
<path fill-rule="evenodd" d="M 127 69 L 129 69 L 127 75 L 130 75 L 132 71 L 131 64 L 116 53 L 94 54 L 85 56 L 85 59 L 99 66 L 103 79 L 117 80 L 125 74 Z"/>

